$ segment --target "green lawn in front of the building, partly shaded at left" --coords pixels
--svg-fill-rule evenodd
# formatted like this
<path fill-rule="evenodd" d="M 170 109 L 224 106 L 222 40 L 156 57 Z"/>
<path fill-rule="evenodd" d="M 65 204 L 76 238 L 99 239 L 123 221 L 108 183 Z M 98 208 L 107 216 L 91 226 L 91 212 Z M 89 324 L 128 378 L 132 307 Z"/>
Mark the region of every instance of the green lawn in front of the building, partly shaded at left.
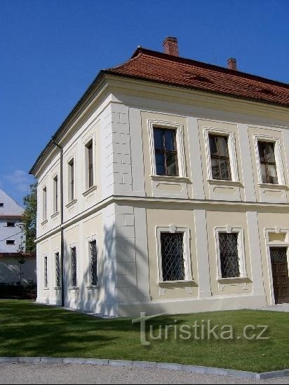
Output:
<path fill-rule="evenodd" d="M 234 338 L 208 340 L 204 329 L 204 339 L 180 339 L 181 325 L 193 325 L 195 321 L 201 325 L 202 320 L 203 325 L 208 320 L 211 325 L 232 325 Z M 147 340 L 152 343 L 142 346 L 140 324 L 132 325 L 130 318 L 107 320 L 28 301 L 0 300 L 0 356 L 111 358 L 254 372 L 281 370 L 289 367 L 288 321 L 287 313 L 251 310 L 161 316 L 148 322 Z M 238 339 L 248 324 L 269 325 L 264 333 L 269 339 Z M 152 340 L 149 337 L 150 325 L 154 327 L 155 337 L 159 325 L 175 325 L 175 329 L 169 329 L 168 339 L 163 332 L 163 339 Z M 174 338 L 175 330 L 177 339 Z M 258 328 L 256 334 L 260 331 Z M 249 336 L 252 334 L 248 331 Z"/>

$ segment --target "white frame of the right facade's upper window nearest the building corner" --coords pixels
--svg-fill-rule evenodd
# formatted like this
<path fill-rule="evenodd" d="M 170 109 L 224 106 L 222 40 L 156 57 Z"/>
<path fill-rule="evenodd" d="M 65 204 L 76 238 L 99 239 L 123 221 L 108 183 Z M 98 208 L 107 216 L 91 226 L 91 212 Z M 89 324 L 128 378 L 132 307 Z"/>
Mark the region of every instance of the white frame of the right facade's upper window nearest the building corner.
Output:
<path fill-rule="evenodd" d="M 156 157 L 154 153 L 154 128 L 163 128 L 169 130 L 175 130 L 176 132 L 176 142 L 177 142 L 177 165 L 179 175 L 177 176 L 163 176 L 156 174 Z M 150 159 L 151 159 L 151 169 L 152 176 L 161 176 L 169 178 L 186 178 L 186 167 L 184 161 L 184 126 L 181 123 L 176 122 L 167 122 L 163 120 L 147 120 L 147 130 L 149 132 L 149 149 L 150 149 Z"/>

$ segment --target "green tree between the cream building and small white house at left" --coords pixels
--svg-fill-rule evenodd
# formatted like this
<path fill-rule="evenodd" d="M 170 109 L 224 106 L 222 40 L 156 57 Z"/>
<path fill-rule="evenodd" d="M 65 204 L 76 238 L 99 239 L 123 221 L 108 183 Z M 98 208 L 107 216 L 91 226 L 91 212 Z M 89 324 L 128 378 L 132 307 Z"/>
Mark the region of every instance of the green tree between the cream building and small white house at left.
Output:
<path fill-rule="evenodd" d="M 23 198 L 24 213 L 22 221 L 26 237 L 25 251 L 27 253 L 36 253 L 36 211 L 37 211 L 37 183 L 30 185 L 30 193 Z"/>

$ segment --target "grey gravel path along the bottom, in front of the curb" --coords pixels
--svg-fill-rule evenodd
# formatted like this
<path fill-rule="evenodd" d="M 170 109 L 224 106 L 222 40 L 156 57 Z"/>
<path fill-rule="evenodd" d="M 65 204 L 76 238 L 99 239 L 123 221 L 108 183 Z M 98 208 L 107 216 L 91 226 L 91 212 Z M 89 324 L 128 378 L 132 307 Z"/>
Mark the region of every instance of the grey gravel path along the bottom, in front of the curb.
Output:
<path fill-rule="evenodd" d="M 177 370 L 98 365 L 0 363 L 0 384 L 289 384 L 289 377 L 252 381 Z"/>

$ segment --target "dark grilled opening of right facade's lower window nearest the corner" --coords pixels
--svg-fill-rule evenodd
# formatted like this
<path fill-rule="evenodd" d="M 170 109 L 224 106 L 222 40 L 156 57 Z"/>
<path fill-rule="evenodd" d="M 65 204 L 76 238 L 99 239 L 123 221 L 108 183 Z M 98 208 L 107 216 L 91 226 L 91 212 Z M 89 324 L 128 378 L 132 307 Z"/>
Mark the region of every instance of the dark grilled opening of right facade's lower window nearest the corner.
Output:
<path fill-rule="evenodd" d="M 161 232 L 163 281 L 184 280 L 184 233 Z"/>

